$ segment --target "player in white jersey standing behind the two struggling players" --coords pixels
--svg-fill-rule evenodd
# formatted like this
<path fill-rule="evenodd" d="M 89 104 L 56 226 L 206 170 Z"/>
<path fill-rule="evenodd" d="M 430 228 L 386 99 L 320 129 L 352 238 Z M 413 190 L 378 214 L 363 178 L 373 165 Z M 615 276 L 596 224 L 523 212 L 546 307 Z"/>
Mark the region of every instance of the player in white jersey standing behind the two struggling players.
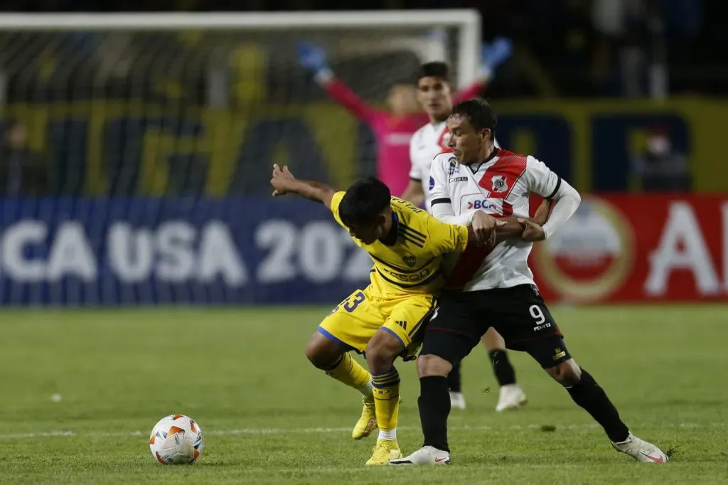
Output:
<path fill-rule="evenodd" d="M 402 198 L 423 206 L 430 207 L 430 165 L 435 155 L 452 150 L 448 147 L 450 133 L 446 120 L 451 113 L 453 101 L 448 82 L 448 66 L 445 63 L 431 62 L 420 66 L 417 73 L 417 98 L 430 123 L 424 125 L 412 135 L 410 141 L 410 183 Z M 496 146 L 498 143 L 496 142 Z M 526 394 L 515 381 L 515 370 L 508 360 L 505 342 L 494 328 L 483 336 L 483 345 L 490 356 L 493 371 L 499 385 L 499 398 L 496 411 L 516 409 L 526 403 Z M 460 364 L 453 366 L 448 375 L 450 401 L 453 409 L 465 409 L 465 398 L 461 388 Z"/>

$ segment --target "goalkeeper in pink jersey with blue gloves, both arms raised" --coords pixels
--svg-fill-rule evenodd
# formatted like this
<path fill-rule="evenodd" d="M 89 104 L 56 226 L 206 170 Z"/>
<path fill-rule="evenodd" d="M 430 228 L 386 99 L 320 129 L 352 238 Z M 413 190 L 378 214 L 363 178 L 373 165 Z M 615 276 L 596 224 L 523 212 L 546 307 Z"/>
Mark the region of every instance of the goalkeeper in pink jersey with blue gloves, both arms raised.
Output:
<path fill-rule="evenodd" d="M 454 101 L 475 98 L 483 91 L 497 66 L 510 56 L 510 41 L 499 39 L 483 45 L 483 68 L 479 78 L 454 95 Z M 409 142 L 412 134 L 429 122 L 416 99 L 414 84 L 397 83 L 389 90 L 389 109 L 376 109 L 365 103 L 346 84 L 336 79 L 322 48 L 307 42 L 298 44 L 298 61 L 311 71 L 328 95 L 365 122 L 376 139 L 378 178 L 392 195 L 401 195 L 409 183 Z"/>

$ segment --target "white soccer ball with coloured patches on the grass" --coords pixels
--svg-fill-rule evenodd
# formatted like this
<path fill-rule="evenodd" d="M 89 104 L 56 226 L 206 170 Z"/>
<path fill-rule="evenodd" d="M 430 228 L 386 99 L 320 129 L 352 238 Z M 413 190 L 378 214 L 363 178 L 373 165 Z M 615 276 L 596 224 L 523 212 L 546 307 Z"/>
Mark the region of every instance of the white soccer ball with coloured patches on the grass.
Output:
<path fill-rule="evenodd" d="M 164 465 L 194 463 L 205 446 L 205 437 L 197 422 L 183 414 L 159 419 L 149 436 L 151 456 Z"/>

